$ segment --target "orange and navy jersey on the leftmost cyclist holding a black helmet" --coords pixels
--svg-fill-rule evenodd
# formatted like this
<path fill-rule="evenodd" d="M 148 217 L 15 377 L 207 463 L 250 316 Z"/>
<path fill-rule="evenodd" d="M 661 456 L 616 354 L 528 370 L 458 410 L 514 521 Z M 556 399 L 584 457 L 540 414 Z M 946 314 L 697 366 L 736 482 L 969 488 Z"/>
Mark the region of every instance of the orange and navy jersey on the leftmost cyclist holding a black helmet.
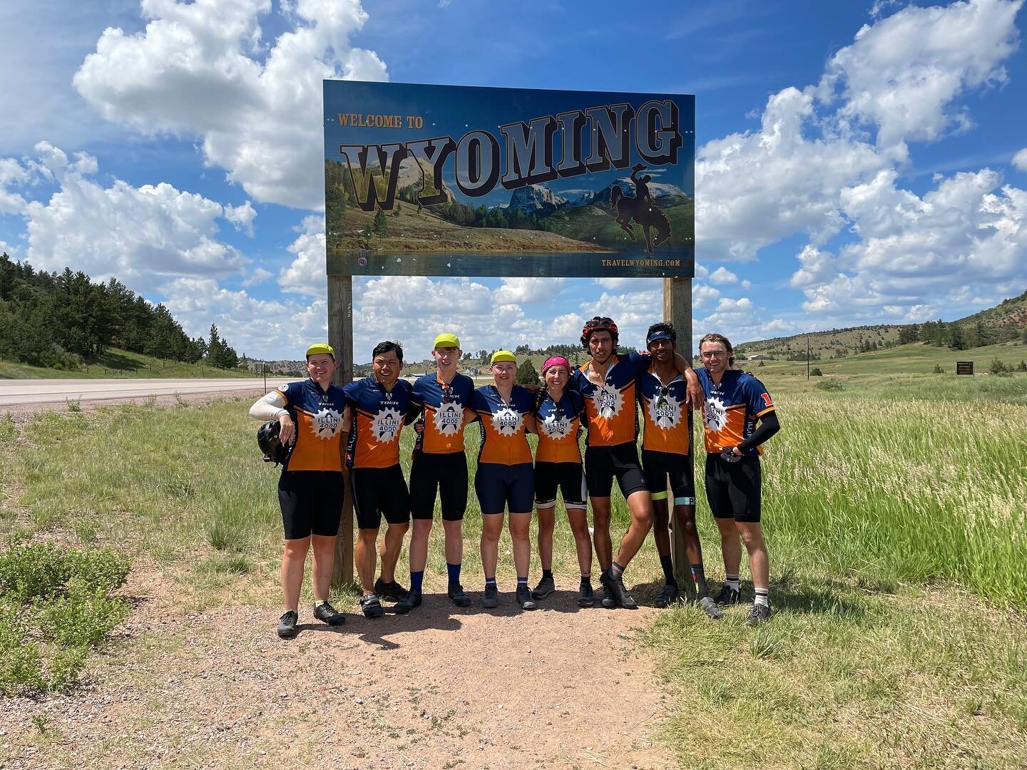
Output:
<path fill-rule="evenodd" d="M 311 379 L 279 385 L 275 392 L 296 423 L 296 442 L 282 470 L 342 470 L 339 444 L 346 398 L 342 388 L 321 390 Z"/>

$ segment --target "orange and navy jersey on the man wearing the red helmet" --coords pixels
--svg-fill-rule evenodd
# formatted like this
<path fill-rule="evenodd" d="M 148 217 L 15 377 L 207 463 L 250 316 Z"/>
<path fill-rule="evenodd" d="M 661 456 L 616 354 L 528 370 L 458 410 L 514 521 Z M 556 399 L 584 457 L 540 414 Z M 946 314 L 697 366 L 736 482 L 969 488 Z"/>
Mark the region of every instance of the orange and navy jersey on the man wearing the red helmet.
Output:
<path fill-rule="evenodd" d="M 584 396 L 589 447 L 613 447 L 636 441 L 635 383 L 651 362 L 652 356 L 647 353 L 611 356 L 602 386 L 588 379 L 591 362 L 574 372 L 570 387 Z"/>

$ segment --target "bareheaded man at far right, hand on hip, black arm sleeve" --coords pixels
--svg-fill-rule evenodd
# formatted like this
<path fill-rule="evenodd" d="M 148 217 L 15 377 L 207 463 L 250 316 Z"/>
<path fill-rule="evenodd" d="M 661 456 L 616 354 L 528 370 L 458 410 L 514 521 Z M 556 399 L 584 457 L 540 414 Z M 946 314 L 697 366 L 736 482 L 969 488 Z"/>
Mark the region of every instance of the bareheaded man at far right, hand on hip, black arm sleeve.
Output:
<path fill-rule="evenodd" d="M 699 340 L 699 357 L 703 363 L 698 371 L 699 382 L 707 399 L 707 499 L 720 530 L 724 554 L 725 584 L 717 604 L 727 606 L 738 601 L 740 538 L 749 552 L 755 592 L 746 624 L 759 625 L 770 617 L 770 560 L 760 524 L 760 445 L 781 430 L 781 423 L 763 383 L 747 372 L 731 369 L 734 350 L 726 337 L 706 335 Z"/>

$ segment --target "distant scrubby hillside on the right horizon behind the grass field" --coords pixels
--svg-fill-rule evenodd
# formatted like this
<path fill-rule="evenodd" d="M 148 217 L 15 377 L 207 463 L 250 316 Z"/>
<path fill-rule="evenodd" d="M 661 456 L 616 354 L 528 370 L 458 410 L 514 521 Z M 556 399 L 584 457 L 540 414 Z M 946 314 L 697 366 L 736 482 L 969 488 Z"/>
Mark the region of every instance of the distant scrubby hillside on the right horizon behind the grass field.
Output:
<path fill-rule="evenodd" d="M 840 358 L 921 342 L 958 350 L 1023 339 L 1027 335 L 1027 292 L 995 307 L 954 321 L 877 324 L 773 337 L 736 345 L 743 355 L 805 359 L 807 339 L 813 358 Z"/>

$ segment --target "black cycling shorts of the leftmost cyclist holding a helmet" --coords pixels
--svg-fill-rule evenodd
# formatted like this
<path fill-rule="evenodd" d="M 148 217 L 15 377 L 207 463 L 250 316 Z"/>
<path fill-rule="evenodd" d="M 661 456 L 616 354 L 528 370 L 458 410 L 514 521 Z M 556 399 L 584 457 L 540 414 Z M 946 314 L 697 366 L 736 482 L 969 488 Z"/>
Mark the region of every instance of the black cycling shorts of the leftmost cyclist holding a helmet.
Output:
<path fill-rule="evenodd" d="M 341 471 L 282 471 L 278 478 L 278 505 L 286 540 L 338 535 L 345 494 L 346 482 Z"/>

